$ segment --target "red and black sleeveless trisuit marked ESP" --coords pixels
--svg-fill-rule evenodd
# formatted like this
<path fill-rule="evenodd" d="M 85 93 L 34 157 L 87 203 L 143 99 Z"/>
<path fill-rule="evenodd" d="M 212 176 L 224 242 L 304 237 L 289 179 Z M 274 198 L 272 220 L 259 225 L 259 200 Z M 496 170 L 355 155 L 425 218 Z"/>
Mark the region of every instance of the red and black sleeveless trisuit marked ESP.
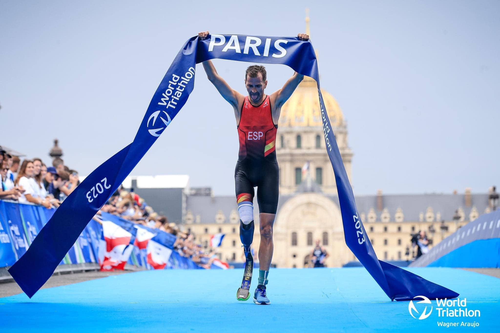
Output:
<path fill-rule="evenodd" d="M 269 95 L 253 106 L 245 97 L 238 123 L 239 154 L 234 170 L 236 202 L 253 202 L 257 187 L 260 213 L 276 214 L 279 168 L 276 161 L 276 130 Z"/>

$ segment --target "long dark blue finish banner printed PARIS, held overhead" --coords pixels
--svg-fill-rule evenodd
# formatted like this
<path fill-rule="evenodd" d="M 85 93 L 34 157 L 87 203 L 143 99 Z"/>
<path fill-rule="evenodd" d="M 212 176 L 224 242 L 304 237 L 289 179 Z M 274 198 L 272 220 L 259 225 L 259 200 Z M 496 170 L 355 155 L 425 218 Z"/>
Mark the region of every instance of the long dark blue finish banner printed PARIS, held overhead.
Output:
<path fill-rule="evenodd" d="M 345 243 L 391 300 L 411 300 L 415 295 L 438 299 L 458 296 L 447 288 L 377 259 L 358 218 L 352 188 L 331 135 L 333 128 L 319 89 L 317 60 L 310 41 L 297 37 L 221 34 L 203 40 L 195 36 L 186 41 L 153 94 L 133 142 L 83 180 L 55 211 L 26 253 L 10 268 L 9 273 L 27 296 L 33 296 L 50 277 L 87 222 L 180 111 L 194 87 L 195 64 L 214 58 L 284 64 L 312 77 L 317 83 L 326 152 L 335 173 Z M 109 188 L 103 186 L 104 179 L 110 184 Z"/>

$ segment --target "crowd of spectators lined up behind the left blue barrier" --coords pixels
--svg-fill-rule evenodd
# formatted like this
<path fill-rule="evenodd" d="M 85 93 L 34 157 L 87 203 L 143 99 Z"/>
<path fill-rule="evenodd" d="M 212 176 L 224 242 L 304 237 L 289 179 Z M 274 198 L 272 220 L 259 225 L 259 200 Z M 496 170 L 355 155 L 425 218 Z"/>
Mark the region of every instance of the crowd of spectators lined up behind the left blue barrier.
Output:
<path fill-rule="evenodd" d="M 0 200 L 41 205 L 47 209 L 59 207 L 78 186 L 78 172 L 64 165 L 61 159 L 55 159 L 51 164 L 47 167 L 40 158 L 24 159 L 21 163 L 19 157 L 0 146 Z M 210 268 L 215 259 L 211 250 L 203 251 L 201 245 L 195 243 L 193 234 L 182 232 L 175 223 L 168 223 L 165 216 L 154 212 L 133 190 L 126 191 L 120 186 L 97 215 L 100 212 L 176 236 L 174 249 L 203 268 Z"/>

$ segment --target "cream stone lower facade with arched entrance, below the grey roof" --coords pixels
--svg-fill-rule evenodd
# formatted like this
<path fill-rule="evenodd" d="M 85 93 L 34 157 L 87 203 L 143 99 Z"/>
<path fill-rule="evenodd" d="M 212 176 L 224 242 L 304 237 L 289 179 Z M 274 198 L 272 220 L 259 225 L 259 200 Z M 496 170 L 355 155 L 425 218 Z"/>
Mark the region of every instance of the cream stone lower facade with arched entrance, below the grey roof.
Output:
<path fill-rule="evenodd" d="M 272 263 L 277 267 L 304 267 L 307 256 L 310 254 L 314 241 L 319 239 L 321 244 L 330 254 L 326 259 L 328 267 L 341 267 L 349 261 L 355 260 L 354 255 L 345 245 L 342 220 L 338 203 L 320 193 L 300 193 L 290 197 L 280 208 L 274 223 L 274 255 Z M 234 205 L 235 206 L 235 205 Z M 373 222 L 363 220 L 363 225 L 368 238 L 373 245 L 377 257 L 381 260 L 407 260 L 412 258 L 411 234 L 424 230 L 433 244 L 439 243 L 443 238 L 455 232 L 459 227 L 469 222 L 448 219 L 447 221 L 409 221 L 396 222 L 400 218 L 402 210 L 399 208 L 396 214 L 388 216 L 387 222 L 380 221 L 383 214 L 387 215 L 385 209 L 375 214 Z M 477 209 L 472 207 L 470 212 Z M 237 214 L 233 209 L 232 214 Z M 222 212 L 219 212 L 219 217 Z M 222 213 L 223 214 L 223 213 Z M 189 210 L 188 215 L 192 216 Z M 366 214 L 365 214 L 366 215 Z M 201 244 L 208 244 L 210 235 L 224 233 L 225 237 L 217 252 L 222 260 L 229 262 L 243 262 L 243 251 L 239 241 L 239 220 L 232 218 L 217 223 L 214 215 L 211 221 L 203 221 L 198 215 L 198 222 L 189 219 L 185 230 L 194 233 Z M 430 219 L 429 219 L 430 220 Z M 219 218 L 218 221 L 221 221 Z M 258 213 L 255 214 L 255 234 L 253 238 L 253 249 L 258 254 L 260 241 L 258 232 Z M 444 227 L 441 230 L 441 227 Z M 431 232 L 433 230 L 433 232 Z M 406 248 L 409 256 L 406 256 Z M 258 256 L 255 256 L 258 261 Z"/>

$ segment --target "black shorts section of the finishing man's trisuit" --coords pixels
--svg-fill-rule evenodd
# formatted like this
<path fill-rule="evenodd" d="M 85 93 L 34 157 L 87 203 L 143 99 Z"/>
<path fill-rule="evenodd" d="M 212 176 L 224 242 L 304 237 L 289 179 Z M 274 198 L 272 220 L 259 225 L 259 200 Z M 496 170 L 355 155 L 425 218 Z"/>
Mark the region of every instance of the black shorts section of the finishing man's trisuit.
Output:
<path fill-rule="evenodd" d="M 276 214 L 279 186 L 277 162 L 250 158 L 238 160 L 234 169 L 234 181 L 236 198 L 241 197 L 242 194 L 249 194 L 253 201 L 255 195 L 253 188 L 256 186 L 259 212 Z"/>

